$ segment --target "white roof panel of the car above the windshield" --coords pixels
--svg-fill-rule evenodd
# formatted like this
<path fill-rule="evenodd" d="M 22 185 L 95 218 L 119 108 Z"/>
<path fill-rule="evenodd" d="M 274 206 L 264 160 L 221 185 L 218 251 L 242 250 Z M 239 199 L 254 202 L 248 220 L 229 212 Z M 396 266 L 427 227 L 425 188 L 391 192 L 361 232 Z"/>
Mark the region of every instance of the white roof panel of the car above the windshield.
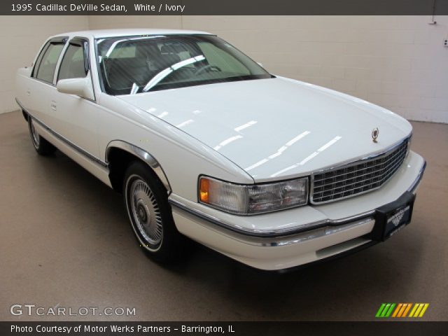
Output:
<path fill-rule="evenodd" d="M 80 36 L 87 38 L 106 38 L 119 36 L 137 36 L 137 35 L 193 35 L 193 34 L 207 34 L 207 31 L 183 30 L 183 29 L 98 29 L 85 31 L 69 31 L 57 36 Z"/>

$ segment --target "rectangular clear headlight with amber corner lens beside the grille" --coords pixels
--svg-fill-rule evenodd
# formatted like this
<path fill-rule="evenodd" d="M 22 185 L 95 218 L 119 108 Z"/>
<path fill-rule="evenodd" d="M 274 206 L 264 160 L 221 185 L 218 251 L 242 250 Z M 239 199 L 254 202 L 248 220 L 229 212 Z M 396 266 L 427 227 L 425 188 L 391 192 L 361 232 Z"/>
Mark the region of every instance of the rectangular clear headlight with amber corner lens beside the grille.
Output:
<path fill-rule="evenodd" d="M 232 214 L 260 214 L 308 202 L 308 178 L 243 186 L 202 176 L 199 200 Z"/>

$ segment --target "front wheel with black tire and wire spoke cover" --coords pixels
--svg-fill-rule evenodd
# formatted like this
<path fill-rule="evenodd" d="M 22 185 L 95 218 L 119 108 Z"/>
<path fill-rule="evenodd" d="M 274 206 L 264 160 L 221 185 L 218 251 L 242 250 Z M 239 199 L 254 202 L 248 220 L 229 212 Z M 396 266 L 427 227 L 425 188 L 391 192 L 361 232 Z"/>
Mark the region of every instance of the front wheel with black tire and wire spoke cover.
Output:
<path fill-rule="evenodd" d="M 134 235 L 146 254 L 162 263 L 178 260 L 186 238 L 174 225 L 167 190 L 144 163 L 132 162 L 127 168 L 123 200 Z"/>

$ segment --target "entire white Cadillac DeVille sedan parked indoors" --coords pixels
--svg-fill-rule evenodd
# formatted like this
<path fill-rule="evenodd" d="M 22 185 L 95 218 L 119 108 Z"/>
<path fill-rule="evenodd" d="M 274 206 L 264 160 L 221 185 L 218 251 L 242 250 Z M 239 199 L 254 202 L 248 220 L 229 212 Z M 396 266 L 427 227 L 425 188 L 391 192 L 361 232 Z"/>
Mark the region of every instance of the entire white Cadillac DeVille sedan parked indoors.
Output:
<path fill-rule="evenodd" d="M 186 237 L 258 269 L 357 251 L 409 223 L 426 165 L 395 113 L 273 76 L 202 31 L 52 36 L 16 97 L 37 153 L 123 193 L 160 262 Z"/>

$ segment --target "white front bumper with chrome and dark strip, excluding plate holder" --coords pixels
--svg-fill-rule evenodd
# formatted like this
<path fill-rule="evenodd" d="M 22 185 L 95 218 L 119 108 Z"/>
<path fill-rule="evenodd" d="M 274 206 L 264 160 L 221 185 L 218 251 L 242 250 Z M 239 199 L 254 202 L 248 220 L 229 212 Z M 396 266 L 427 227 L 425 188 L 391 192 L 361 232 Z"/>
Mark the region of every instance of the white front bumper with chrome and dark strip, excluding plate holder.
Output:
<path fill-rule="evenodd" d="M 286 269 L 372 244 L 375 210 L 415 193 L 426 162 L 409 152 L 381 188 L 347 200 L 256 216 L 225 214 L 170 195 L 176 227 L 230 258 L 259 269 Z"/>

